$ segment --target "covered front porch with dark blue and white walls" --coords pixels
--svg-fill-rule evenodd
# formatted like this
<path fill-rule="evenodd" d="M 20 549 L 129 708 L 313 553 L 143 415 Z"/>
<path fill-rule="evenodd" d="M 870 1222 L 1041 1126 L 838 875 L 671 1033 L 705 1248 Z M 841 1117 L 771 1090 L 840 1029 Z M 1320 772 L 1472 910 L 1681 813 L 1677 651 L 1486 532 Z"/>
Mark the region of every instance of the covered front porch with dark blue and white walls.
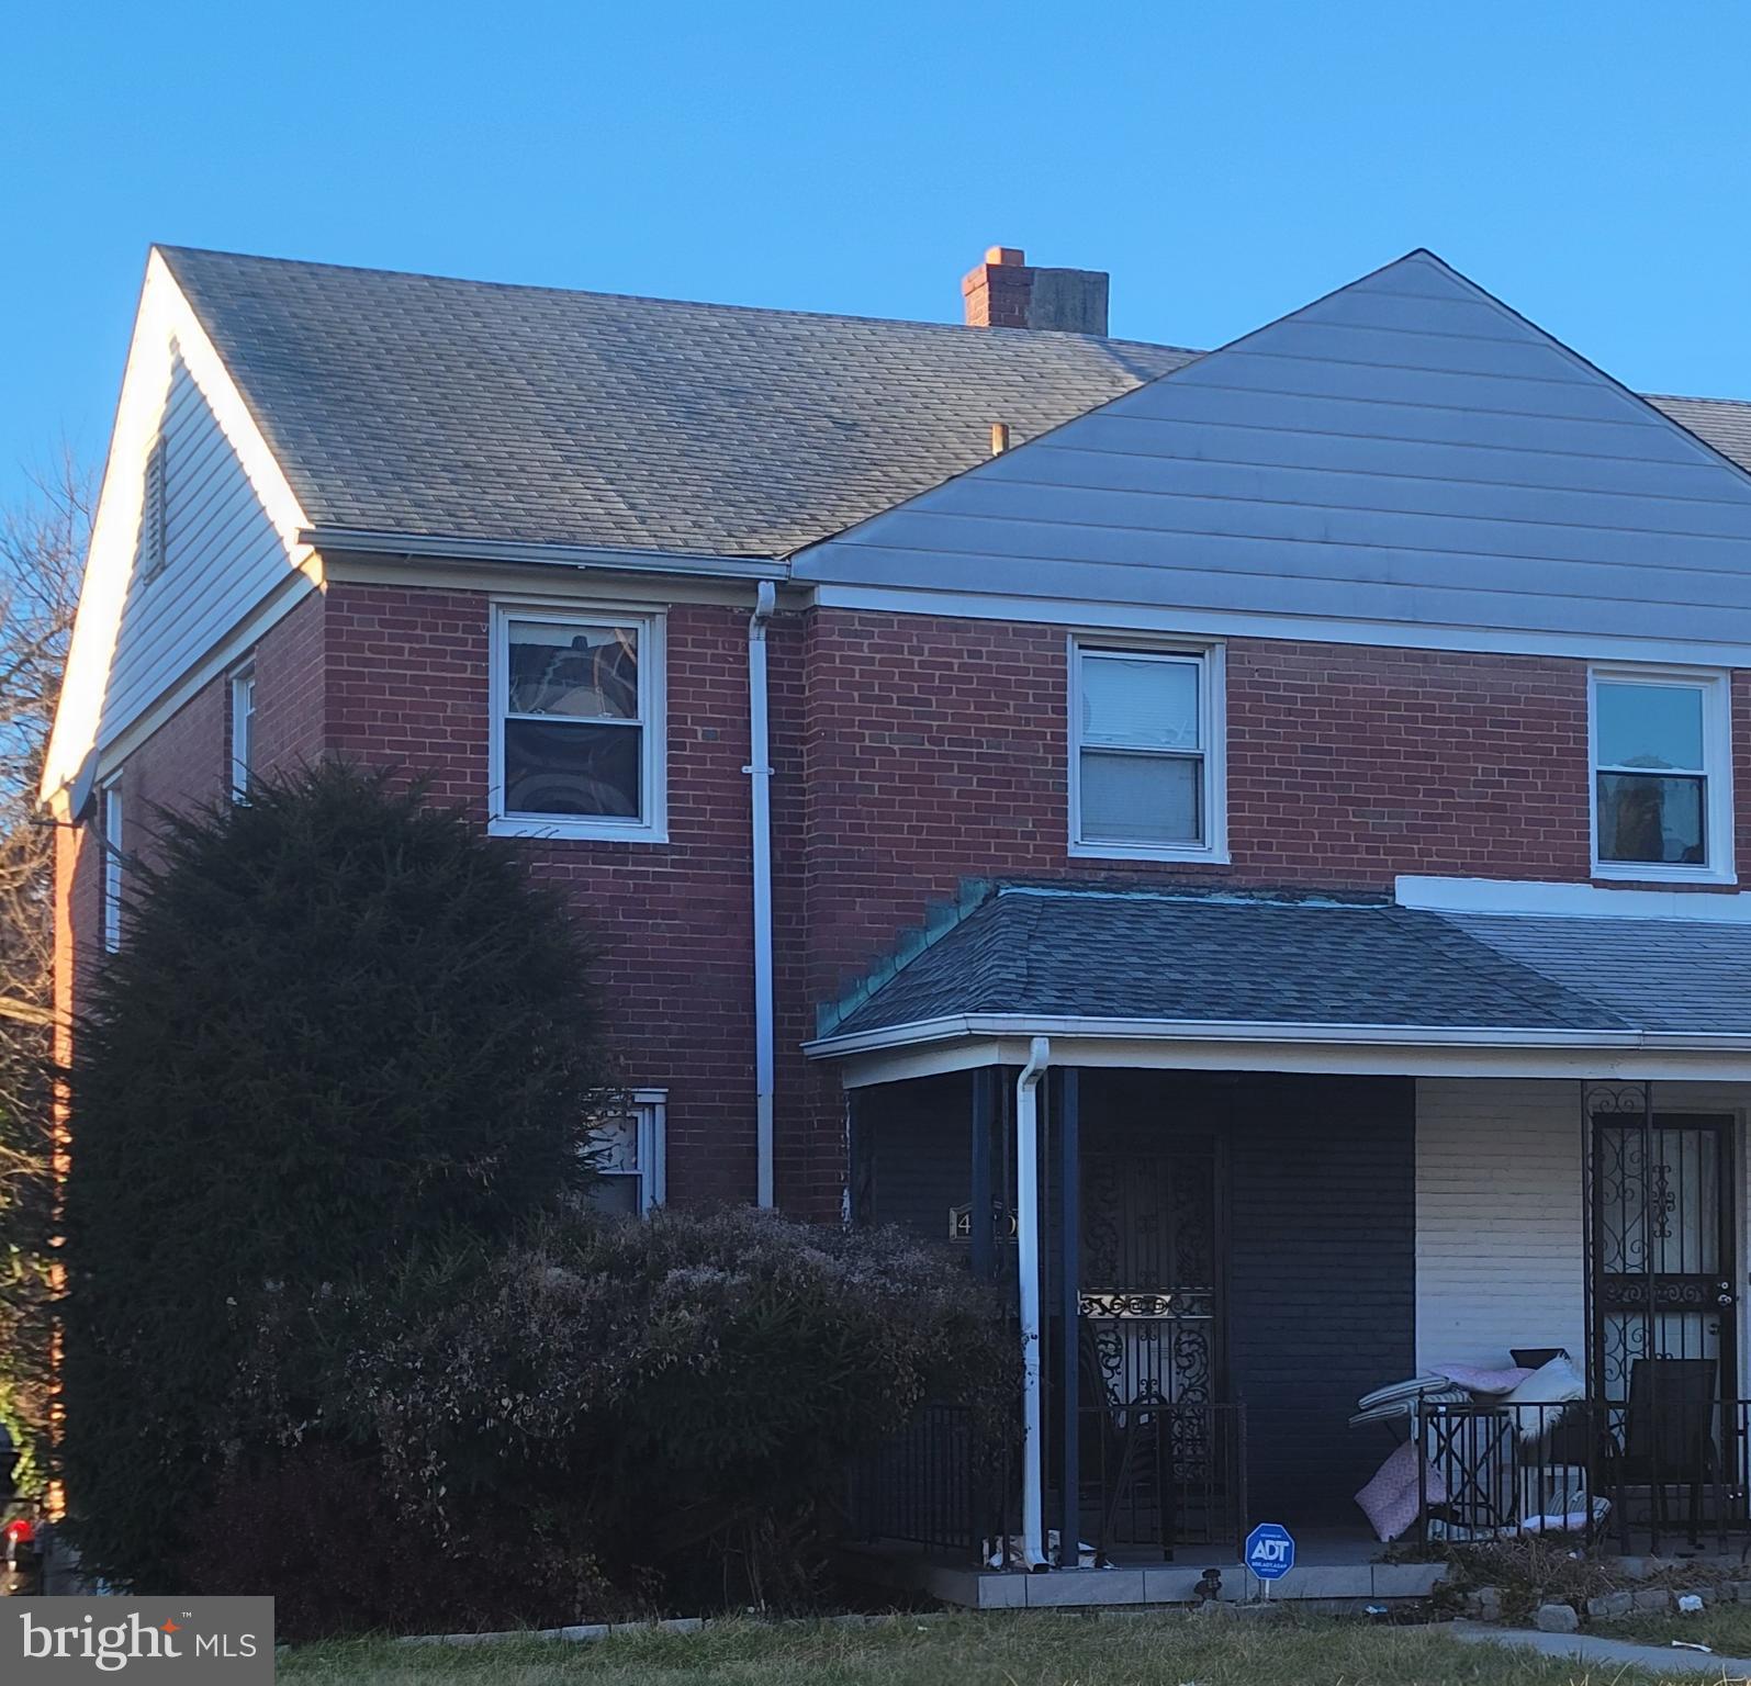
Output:
<path fill-rule="evenodd" d="M 1031 1425 L 935 1406 L 858 1472 L 867 1567 L 979 1605 L 1233 1598 L 1259 1520 L 1297 1535 L 1278 1597 L 1420 1597 L 1439 1563 L 1404 1558 L 1553 1528 L 1737 1560 L 1747 1099 L 1051 1064 L 1030 1124 L 1014 1064 L 856 1085 L 854 1217 L 953 1238 L 1017 1308 L 1031 1257 L 1038 1360 Z M 1557 1353 L 1579 1397 L 1431 1385 Z M 1401 1446 L 1415 1514 L 1383 1562 L 1355 1495 Z M 1030 1448 L 1049 1576 L 1017 1574 Z"/>

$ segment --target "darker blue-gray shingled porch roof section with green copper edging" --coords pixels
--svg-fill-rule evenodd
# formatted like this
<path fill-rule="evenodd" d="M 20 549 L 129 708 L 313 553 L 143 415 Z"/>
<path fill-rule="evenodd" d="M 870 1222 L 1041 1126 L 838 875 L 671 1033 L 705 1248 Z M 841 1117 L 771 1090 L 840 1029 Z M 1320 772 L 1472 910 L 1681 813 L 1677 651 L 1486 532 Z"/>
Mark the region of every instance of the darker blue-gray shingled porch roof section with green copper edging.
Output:
<path fill-rule="evenodd" d="M 1509 947 L 1494 924 L 1474 933 L 1383 902 L 1005 888 L 823 1033 L 960 1014 L 1558 1031 L 1644 1022 L 1630 986 L 1614 1001 L 1592 987 L 1588 966 L 1607 956 L 1558 975 L 1536 938 Z M 1751 926 L 1737 928 L 1735 954 L 1751 963 Z M 1725 968 L 1725 949 L 1716 958 Z M 1751 1029 L 1751 1000 L 1739 1028 Z"/>

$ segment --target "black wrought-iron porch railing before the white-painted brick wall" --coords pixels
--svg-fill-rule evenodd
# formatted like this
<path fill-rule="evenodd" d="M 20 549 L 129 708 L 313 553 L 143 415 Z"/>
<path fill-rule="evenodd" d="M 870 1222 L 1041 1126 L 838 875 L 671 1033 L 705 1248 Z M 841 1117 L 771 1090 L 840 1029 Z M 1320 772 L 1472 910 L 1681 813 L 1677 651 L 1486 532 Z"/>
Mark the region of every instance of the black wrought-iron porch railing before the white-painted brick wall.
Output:
<path fill-rule="evenodd" d="M 1417 1422 L 1424 1539 L 1576 1534 L 1660 1551 L 1751 1530 L 1751 1402 L 1651 1395 L 1429 1404 Z"/>

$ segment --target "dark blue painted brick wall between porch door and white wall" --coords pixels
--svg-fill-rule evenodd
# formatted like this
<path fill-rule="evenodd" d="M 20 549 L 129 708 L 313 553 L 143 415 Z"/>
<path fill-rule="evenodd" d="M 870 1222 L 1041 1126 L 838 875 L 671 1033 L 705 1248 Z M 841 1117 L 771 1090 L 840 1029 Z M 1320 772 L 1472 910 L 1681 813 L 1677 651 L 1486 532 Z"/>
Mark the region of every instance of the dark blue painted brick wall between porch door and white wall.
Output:
<path fill-rule="evenodd" d="M 1347 1418 L 1415 1371 L 1415 1084 L 1240 1080 L 1231 1131 L 1229 1383 L 1252 1514 L 1359 1523 L 1355 1490 L 1392 1443 Z"/>

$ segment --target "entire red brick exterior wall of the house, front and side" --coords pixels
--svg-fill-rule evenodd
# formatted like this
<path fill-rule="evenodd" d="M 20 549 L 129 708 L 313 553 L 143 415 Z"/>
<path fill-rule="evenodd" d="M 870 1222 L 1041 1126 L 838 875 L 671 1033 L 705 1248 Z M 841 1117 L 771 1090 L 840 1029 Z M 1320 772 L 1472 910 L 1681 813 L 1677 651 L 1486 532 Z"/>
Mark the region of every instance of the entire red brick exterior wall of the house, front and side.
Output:
<path fill-rule="evenodd" d="M 678 1201 L 746 1199 L 753 1163 L 748 609 L 669 613 L 667 846 L 527 840 L 602 947 L 620 1073 L 669 1089 Z M 352 755 L 485 811 L 489 601 L 331 585 L 256 651 L 261 763 Z M 1586 665 L 1231 639 L 1233 863 L 1072 861 L 1061 629 L 819 609 L 770 630 L 779 1199 L 837 1210 L 842 1098 L 798 1049 L 970 877 L 1389 889 L 1399 872 L 1585 881 Z M 1735 676 L 1751 861 L 1751 674 Z M 128 762 L 147 802 L 222 788 L 214 681 Z M 61 893 L 96 940 L 96 868 Z M 72 989 L 72 977 L 68 977 Z"/>

